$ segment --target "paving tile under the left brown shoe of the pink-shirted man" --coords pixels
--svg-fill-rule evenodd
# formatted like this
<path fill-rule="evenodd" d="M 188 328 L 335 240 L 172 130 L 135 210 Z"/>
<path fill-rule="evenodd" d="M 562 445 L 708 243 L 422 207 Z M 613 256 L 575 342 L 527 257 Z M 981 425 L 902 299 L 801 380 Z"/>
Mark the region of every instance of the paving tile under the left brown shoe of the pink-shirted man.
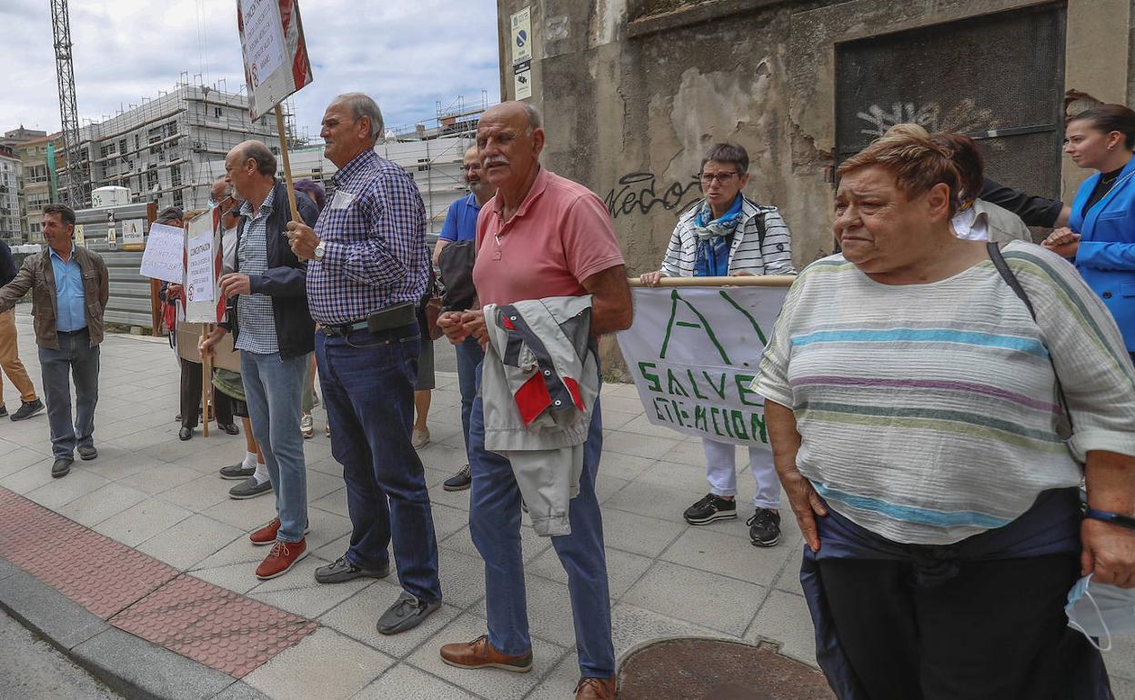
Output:
<path fill-rule="evenodd" d="M 566 651 L 552 642 L 533 640 L 533 669 L 530 673 L 512 673 L 499 668 L 470 671 L 449 666 L 442 660 L 438 650 L 443 644 L 470 642 L 481 634 L 485 634 L 485 621 L 476 615 L 462 615 L 419 647 L 407 660 L 421 671 L 484 698 L 520 700 L 536 686 L 540 674 L 553 668 Z"/>

